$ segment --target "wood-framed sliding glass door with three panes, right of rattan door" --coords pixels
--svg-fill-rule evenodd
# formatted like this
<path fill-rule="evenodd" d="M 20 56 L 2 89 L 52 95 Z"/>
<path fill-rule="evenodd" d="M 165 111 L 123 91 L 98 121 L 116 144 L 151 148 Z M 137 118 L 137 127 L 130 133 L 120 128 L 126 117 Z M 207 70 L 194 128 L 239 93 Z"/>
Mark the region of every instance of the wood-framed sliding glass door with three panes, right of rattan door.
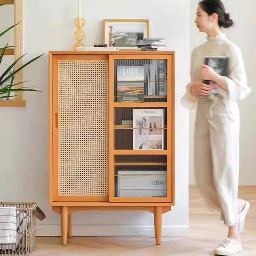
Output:
<path fill-rule="evenodd" d="M 171 55 L 110 56 L 111 202 L 171 202 L 171 70 Z"/>

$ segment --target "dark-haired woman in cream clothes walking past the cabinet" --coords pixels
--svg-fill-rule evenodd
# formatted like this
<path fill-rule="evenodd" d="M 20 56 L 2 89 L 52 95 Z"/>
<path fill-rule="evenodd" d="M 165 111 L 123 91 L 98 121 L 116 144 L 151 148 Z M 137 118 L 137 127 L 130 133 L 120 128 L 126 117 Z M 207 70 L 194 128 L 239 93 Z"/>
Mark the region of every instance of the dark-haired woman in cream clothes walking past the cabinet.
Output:
<path fill-rule="evenodd" d="M 204 0 L 197 7 L 195 23 L 207 41 L 195 48 L 191 57 L 191 82 L 181 103 L 197 107 L 194 157 L 196 181 L 209 206 L 221 210 L 228 226 L 228 238 L 218 245 L 215 254 L 229 255 L 241 251 L 239 232 L 244 227 L 250 204 L 238 199 L 239 179 L 239 110 L 237 101 L 251 89 L 246 85 L 246 73 L 240 49 L 230 42 L 220 28 L 233 21 L 220 0 Z M 228 76 L 219 75 L 204 65 L 204 57 L 228 57 Z M 217 84 L 217 93 L 211 93 Z M 216 86 L 216 85 L 215 85 Z"/>

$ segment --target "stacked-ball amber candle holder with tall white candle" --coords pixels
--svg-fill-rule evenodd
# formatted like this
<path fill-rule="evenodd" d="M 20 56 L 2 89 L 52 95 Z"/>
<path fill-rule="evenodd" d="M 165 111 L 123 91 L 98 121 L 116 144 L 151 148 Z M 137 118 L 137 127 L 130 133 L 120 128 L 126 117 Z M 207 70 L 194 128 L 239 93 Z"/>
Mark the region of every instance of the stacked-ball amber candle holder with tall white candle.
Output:
<path fill-rule="evenodd" d="M 77 30 L 74 32 L 76 42 L 73 46 L 73 49 L 76 50 L 78 47 L 84 47 L 82 39 L 85 38 L 85 32 L 82 30 L 82 27 L 85 25 L 85 19 L 81 17 L 81 0 L 78 1 L 78 16 L 74 19 L 74 25 L 77 27 Z"/>

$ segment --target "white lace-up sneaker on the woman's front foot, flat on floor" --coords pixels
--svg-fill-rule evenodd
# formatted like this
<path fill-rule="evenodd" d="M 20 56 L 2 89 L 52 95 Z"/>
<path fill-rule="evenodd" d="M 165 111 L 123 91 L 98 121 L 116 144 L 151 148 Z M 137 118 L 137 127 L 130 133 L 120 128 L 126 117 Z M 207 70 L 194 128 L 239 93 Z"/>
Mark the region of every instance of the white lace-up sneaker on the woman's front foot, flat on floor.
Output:
<path fill-rule="evenodd" d="M 214 250 L 216 255 L 230 255 L 236 254 L 242 250 L 242 246 L 238 244 L 234 239 L 226 238 L 218 247 Z"/>

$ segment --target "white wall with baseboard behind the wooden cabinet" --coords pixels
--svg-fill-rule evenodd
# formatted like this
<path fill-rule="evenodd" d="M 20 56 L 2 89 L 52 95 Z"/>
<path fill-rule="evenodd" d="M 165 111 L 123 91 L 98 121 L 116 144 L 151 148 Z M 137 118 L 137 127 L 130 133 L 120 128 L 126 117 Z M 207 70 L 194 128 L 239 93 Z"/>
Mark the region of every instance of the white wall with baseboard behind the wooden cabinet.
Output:
<path fill-rule="evenodd" d="M 37 202 L 47 215 L 38 222 L 38 234 L 59 235 L 60 216 L 48 205 L 47 52 L 72 48 L 76 1 L 23 2 L 25 59 L 46 53 L 25 70 L 24 79 L 43 93 L 27 93 L 25 108 L 0 108 L 0 198 Z M 186 235 L 189 123 L 179 99 L 189 80 L 190 1 L 82 0 L 81 13 L 87 22 L 86 46 L 102 42 L 103 18 L 149 18 L 151 36 L 164 36 L 168 48 L 176 51 L 176 205 L 163 216 L 163 235 Z M 78 212 L 73 234 L 153 235 L 153 223 L 148 212 Z"/>

